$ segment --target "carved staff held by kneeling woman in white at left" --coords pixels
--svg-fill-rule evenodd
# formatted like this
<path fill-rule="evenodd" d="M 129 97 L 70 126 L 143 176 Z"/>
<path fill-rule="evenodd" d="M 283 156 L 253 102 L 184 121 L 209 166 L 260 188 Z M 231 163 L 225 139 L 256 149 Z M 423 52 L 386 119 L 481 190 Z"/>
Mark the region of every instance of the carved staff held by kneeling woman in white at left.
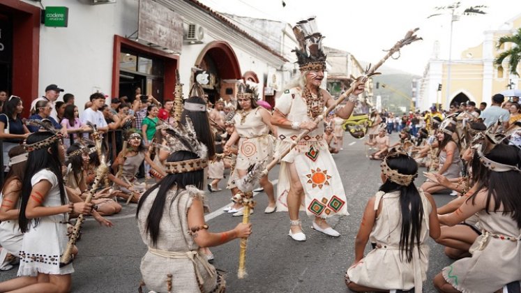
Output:
<path fill-rule="evenodd" d="M 91 190 L 89 190 L 89 194 L 85 198 L 85 203 L 89 204 L 92 200 L 92 197 L 96 193 L 96 190 L 98 190 L 98 187 L 100 186 L 100 182 L 102 179 L 105 178 L 107 175 L 107 172 L 109 171 L 109 167 L 107 166 L 107 163 L 105 163 L 105 156 L 103 156 L 101 152 L 101 136 L 98 133 L 98 130 L 96 128 L 93 128 L 93 137 L 96 140 L 96 151 L 98 151 L 98 155 L 101 154 L 101 160 L 100 160 L 100 166 L 98 167 L 98 170 L 96 170 L 96 179 L 94 179 L 94 183 L 92 184 Z M 81 213 L 80 216 L 78 216 L 76 220 L 76 224 L 73 227 L 73 233 L 70 235 L 69 241 L 67 243 L 67 247 L 65 248 L 65 251 L 63 252 L 63 255 L 61 255 L 60 258 L 60 267 L 65 266 L 67 264 L 70 264 L 70 262 L 73 261 L 72 255 L 73 255 L 73 248 L 74 244 L 76 243 L 76 239 L 78 238 L 78 235 L 80 234 L 80 229 L 82 228 L 82 223 L 84 221 L 84 216 Z"/>

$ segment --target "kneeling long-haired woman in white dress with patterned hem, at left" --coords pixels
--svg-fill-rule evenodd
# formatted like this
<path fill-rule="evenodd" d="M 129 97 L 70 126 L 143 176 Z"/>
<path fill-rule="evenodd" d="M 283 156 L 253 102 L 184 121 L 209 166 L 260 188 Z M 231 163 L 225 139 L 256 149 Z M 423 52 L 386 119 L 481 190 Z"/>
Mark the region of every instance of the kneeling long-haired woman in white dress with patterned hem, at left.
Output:
<path fill-rule="evenodd" d="M 22 185 L 18 222 L 24 233 L 20 268 L 13 280 L 0 283 L 0 292 L 69 292 L 73 265 L 60 267 L 68 237 L 69 213 L 90 213 L 92 204 L 67 199 L 61 162 L 65 151 L 61 136 L 50 132 L 33 133 L 25 146 L 29 151 L 27 172 Z"/>

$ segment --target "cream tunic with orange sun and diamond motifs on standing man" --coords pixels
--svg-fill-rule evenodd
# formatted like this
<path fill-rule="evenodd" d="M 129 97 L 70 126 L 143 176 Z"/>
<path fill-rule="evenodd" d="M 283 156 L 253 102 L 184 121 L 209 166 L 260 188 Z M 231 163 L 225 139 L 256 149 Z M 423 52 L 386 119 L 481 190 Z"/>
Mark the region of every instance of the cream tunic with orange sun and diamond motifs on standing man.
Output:
<path fill-rule="evenodd" d="M 275 101 L 275 108 L 290 121 L 311 121 L 308 107 L 299 88 L 285 91 Z M 237 127 L 237 126 L 235 126 Z M 292 144 L 302 130 L 279 127 L 276 153 L 282 153 Z M 299 174 L 308 216 L 329 218 L 334 215 L 348 215 L 342 178 L 338 174 L 335 161 L 324 140 L 324 123 L 305 135 L 296 147 L 280 161 L 277 184 L 277 211 L 287 211 L 287 193 L 289 192 L 289 170 L 287 163 L 294 163 Z"/>

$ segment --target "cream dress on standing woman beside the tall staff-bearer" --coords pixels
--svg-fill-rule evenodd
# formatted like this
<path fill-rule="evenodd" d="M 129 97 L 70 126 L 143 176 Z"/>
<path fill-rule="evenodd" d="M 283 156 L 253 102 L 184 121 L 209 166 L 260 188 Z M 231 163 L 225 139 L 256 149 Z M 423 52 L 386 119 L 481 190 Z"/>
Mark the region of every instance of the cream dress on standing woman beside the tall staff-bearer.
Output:
<path fill-rule="evenodd" d="M 269 127 L 262 121 L 261 107 L 250 110 L 245 119 L 241 113 L 235 114 L 235 130 L 239 134 L 239 153 L 235 167 L 248 170 L 250 165 L 273 159 L 273 139 Z"/>

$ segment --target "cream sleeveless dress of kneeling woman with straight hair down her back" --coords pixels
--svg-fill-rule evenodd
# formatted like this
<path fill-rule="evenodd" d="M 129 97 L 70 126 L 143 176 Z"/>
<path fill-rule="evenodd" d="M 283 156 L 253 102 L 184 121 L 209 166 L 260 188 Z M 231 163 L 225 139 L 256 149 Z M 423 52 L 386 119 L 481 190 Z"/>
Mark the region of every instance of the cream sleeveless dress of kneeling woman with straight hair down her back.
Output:
<path fill-rule="evenodd" d="M 423 193 L 420 193 L 423 206 L 423 220 L 420 232 L 420 252 L 414 246 L 411 262 L 400 260 L 400 232 L 402 215 L 400 212 L 400 192 L 378 192 L 375 195 L 375 211 L 382 204 L 382 212 L 372 227 L 370 241 L 376 248 L 355 266 L 347 269 L 346 278 L 358 285 L 384 290 L 411 290 L 422 292 L 422 282 L 427 279 L 429 246 L 429 214 L 432 206 Z"/>

